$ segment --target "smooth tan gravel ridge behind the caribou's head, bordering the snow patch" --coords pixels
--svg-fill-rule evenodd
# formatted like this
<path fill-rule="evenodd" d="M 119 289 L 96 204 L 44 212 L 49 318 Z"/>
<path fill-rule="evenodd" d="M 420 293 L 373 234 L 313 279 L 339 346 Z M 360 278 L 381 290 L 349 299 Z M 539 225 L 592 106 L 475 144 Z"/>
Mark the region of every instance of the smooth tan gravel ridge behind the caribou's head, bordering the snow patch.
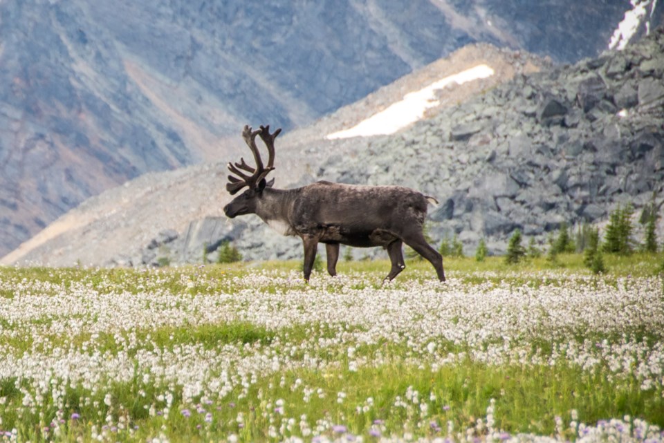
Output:
<path fill-rule="evenodd" d="M 468 100 L 514 75 L 550 66 L 540 57 L 522 51 L 502 50 L 488 44 L 465 46 L 314 124 L 284 131 L 277 139 L 277 169 L 272 173 L 277 186 L 311 183 L 330 155 L 352 162 L 358 149 L 367 149 L 367 139 L 327 140 L 326 135 L 365 120 L 402 100 L 406 93 L 479 64 L 491 66 L 494 74 L 439 90 L 439 104 L 429 112 L 436 113 L 436 109 Z M 225 162 L 250 157 L 240 130 L 239 126 L 231 143 L 232 153 L 224 162 L 149 173 L 109 189 L 59 217 L 0 263 L 57 266 L 201 263 L 206 245 L 210 260 L 214 260 L 216 246 L 229 238 L 238 238 L 247 258 L 297 256 L 301 249 L 297 240 L 276 235 L 257 218 L 228 220 L 223 216 L 223 205 L 231 198 L 225 191 L 228 175 Z M 244 229 L 248 234 L 240 235 Z"/>

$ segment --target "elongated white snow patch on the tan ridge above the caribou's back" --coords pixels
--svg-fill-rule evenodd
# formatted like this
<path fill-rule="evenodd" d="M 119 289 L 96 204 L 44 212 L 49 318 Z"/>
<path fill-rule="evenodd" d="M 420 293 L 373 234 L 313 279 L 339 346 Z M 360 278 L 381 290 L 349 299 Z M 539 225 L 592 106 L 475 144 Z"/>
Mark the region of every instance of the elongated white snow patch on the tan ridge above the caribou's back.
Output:
<path fill-rule="evenodd" d="M 369 137 L 371 135 L 388 135 L 405 128 L 424 117 L 427 109 L 437 106 L 436 91 L 450 84 L 463 84 L 472 80 L 483 79 L 494 74 L 494 70 L 481 64 L 466 69 L 458 74 L 450 75 L 422 88 L 419 91 L 408 93 L 403 100 L 391 104 L 387 109 L 367 118 L 351 129 L 338 131 L 326 136 L 328 140 L 351 137 Z"/>

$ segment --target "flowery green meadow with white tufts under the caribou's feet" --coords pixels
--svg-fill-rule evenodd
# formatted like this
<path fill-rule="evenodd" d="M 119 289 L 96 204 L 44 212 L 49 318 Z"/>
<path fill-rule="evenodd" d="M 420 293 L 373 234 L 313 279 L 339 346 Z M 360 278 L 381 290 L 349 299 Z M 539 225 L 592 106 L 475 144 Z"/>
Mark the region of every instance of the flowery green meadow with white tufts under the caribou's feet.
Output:
<path fill-rule="evenodd" d="M 663 259 L 606 260 L 1 267 L 0 441 L 662 442 Z"/>

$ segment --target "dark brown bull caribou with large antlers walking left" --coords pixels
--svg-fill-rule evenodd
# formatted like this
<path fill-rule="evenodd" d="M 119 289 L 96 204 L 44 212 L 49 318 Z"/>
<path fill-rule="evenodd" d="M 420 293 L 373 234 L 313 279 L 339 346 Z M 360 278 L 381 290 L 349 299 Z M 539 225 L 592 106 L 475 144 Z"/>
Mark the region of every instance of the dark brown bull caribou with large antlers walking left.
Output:
<path fill-rule="evenodd" d="M 405 243 L 434 266 L 440 281 L 445 281 L 443 257 L 424 238 L 423 225 L 427 216 L 427 202 L 435 201 L 414 189 L 400 186 L 343 185 L 326 181 L 315 182 L 297 189 L 275 189 L 274 179 L 266 176 L 275 169 L 275 138 L 281 132 L 270 133 L 270 126 L 252 131 L 245 126 L 242 137 L 255 160 L 255 167 L 240 159 L 228 163 L 226 190 L 235 195 L 247 187 L 223 208 L 226 216 L 234 218 L 256 214 L 277 232 L 299 236 L 304 243 L 304 279 L 309 280 L 318 243 L 327 252 L 327 270 L 336 275 L 339 245 L 354 247 L 382 246 L 392 263 L 386 280 L 394 279 L 405 268 L 402 245 Z M 268 164 L 264 166 L 256 145 L 260 135 L 268 149 Z"/>

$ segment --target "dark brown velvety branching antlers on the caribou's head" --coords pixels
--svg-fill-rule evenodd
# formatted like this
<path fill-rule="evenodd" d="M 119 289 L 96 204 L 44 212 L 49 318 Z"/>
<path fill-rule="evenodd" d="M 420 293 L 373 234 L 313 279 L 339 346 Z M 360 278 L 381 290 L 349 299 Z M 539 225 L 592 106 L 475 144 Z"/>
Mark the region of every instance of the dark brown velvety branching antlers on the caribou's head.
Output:
<path fill-rule="evenodd" d="M 270 134 L 270 125 L 262 126 L 256 131 L 252 131 L 251 127 L 246 125 L 242 131 L 242 138 L 246 142 L 247 146 L 251 150 L 251 153 L 254 155 L 254 161 L 256 162 L 256 167 L 250 167 L 244 161 L 244 158 L 240 158 L 239 163 L 228 163 L 228 170 L 235 174 L 235 176 L 228 176 L 228 183 L 226 184 L 226 190 L 230 192 L 231 195 L 236 194 L 237 191 L 242 189 L 245 186 L 255 188 L 261 180 L 266 178 L 268 173 L 275 169 L 275 138 L 281 132 L 281 129 L 277 129 L 274 133 Z M 263 160 L 261 160 L 261 153 L 258 151 L 256 146 L 256 135 L 261 135 L 261 140 L 265 143 L 268 148 L 268 166 L 263 166 Z M 243 171 L 250 173 L 247 175 Z"/>

